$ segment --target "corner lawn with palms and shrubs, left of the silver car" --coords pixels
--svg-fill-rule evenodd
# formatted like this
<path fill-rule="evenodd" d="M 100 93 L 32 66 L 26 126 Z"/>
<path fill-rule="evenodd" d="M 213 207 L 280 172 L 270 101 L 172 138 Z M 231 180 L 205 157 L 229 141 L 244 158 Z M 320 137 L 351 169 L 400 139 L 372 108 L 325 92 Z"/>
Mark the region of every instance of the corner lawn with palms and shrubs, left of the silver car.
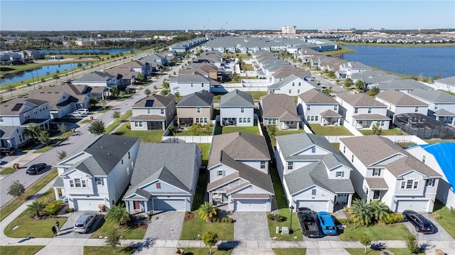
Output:
<path fill-rule="evenodd" d="M 55 200 L 54 190 L 51 188 L 45 192 L 38 200 L 47 204 L 48 201 Z M 53 237 L 50 227 L 55 224 L 55 219 L 58 219 L 60 226 L 65 224 L 68 218 L 66 217 L 46 217 L 45 219 L 33 219 L 28 215 L 28 212 L 22 212 L 21 215 L 13 219 L 5 228 L 5 235 L 14 238 L 26 237 Z M 14 227 L 18 226 L 16 229 Z"/>

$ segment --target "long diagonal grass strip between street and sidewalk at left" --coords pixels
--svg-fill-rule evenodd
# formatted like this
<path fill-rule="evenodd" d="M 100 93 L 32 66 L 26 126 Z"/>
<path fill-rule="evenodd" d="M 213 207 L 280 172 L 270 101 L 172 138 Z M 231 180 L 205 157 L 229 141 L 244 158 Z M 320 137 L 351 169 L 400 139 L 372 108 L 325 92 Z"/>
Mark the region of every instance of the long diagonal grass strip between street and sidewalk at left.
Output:
<path fill-rule="evenodd" d="M 29 197 L 35 195 L 36 192 L 38 192 L 38 190 L 41 190 L 45 185 L 47 185 L 57 175 L 58 175 L 57 168 L 52 168 L 48 173 L 45 173 L 45 175 L 42 178 L 37 180 L 35 184 L 28 187 L 26 189 L 26 192 L 24 192 L 20 198 L 16 197 L 13 200 L 11 200 L 11 202 L 4 205 L 4 207 L 1 207 L 0 221 L 4 220 L 8 215 L 11 214 L 11 212 L 14 212 L 14 210 L 16 210 L 19 206 L 21 206 L 23 204 L 23 202 L 26 202 L 26 200 L 28 200 Z"/>

